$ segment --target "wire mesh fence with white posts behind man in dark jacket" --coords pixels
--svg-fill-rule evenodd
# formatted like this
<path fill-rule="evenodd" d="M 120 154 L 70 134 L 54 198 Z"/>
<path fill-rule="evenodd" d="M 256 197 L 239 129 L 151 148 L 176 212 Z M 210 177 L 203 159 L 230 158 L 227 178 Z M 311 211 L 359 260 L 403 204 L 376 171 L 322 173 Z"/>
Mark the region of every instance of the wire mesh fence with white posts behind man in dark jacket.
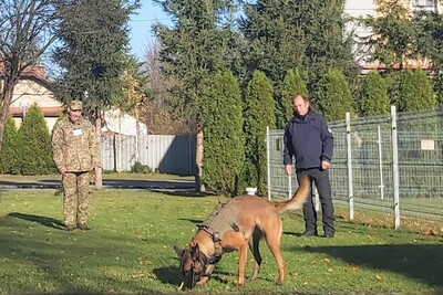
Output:
<path fill-rule="evenodd" d="M 443 220 L 443 109 L 332 122 L 332 197 L 353 210 L 369 208 Z M 269 198 L 297 188 L 284 171 L 284 130 L 268 131 Z"/>

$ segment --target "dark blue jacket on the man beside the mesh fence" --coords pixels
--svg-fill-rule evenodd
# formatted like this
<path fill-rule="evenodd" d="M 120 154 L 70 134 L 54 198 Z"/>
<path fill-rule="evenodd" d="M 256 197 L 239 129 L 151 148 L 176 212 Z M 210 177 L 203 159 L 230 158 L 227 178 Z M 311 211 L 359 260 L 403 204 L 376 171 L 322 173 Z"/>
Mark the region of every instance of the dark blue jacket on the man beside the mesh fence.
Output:
<path fill-rule="evenodd" d="M 285 128 L 284 164 L 297 169 L 320 168 L 321 161 L 331 161 L 333 150 L 332 133 L 323 117 L 309 110 L 305 118 L 295 115 Z"/>

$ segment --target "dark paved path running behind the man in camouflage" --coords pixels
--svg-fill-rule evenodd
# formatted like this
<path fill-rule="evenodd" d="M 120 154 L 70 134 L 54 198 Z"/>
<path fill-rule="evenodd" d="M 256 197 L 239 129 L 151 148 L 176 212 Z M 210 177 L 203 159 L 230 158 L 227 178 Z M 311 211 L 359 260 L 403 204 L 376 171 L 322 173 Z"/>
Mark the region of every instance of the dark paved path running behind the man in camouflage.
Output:
<path fill-rule="evenodd" d="M 190 191 L 195 189 L 193 180 L 163 180 L 163 179 L 104 179 L 106 189 L 146 189 L 146 190 L 174 190 Z M 60 189 L 60 179 L 27 179 L 0 178 L 0 190 L 12 189 Z"/>

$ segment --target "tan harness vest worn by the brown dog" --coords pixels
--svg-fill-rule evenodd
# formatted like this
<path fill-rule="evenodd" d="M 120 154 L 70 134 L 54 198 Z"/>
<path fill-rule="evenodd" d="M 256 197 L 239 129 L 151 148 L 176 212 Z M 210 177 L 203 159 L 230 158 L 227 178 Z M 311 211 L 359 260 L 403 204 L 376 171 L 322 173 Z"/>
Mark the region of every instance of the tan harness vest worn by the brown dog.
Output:
<path fill-rule="evenodd" d="M 216 257 L 222 256 L 223 249 L 219 242 L 223 240 L 225 232 L 231 230 L 236 232 L 239 231 L 236 222 L 237 221 L 229 204 L 218 203 L 209 217 L 203 223 L 197 224 L 199 230 L 206 231 L 213 236 L 215 249 L 214 255 Z"/>

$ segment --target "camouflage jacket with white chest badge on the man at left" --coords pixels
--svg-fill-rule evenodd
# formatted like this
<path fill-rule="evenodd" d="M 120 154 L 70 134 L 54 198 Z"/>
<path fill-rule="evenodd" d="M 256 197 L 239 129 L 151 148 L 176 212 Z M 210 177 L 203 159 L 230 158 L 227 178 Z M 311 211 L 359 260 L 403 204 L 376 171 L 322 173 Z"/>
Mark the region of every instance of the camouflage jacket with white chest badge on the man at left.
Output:
<path fill-rule="evenodd" d="M 52 131 L 52 154 L 56 168 L 69 172 L 90 171 L 100 166 L 100 144 L 92 124 L 81 117 L 72 123 L 66 116 Z"/>

